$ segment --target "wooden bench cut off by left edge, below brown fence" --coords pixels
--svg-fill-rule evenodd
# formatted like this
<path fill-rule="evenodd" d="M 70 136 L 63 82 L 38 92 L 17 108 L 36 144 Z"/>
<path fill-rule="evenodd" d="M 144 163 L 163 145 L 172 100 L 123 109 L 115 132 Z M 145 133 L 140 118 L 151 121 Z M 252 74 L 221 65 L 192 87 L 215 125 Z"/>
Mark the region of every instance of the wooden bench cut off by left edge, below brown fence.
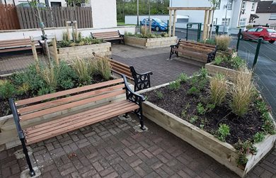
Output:
<path fill-rule="evenodd" d="M 39 43 L 35 44 L 37 49 L 41 49 Z M 1 52 L 13 52 L 21 50 L 31 50 L 30 39 L 15 39 L 15 40 L 0 40 L 0 53 Z"/>

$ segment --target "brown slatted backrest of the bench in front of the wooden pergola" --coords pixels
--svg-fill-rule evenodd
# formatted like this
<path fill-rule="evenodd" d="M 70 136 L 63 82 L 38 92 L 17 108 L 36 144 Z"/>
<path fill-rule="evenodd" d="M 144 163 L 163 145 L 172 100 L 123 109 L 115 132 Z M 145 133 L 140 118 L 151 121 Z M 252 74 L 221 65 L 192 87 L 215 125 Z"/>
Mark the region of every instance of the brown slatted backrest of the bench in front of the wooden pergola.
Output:
<path fill-rule="evenodd" d="M 209 53 L 216 50 L 215 45 L 208 45 L 204 43 L 191 42 L 186 40 L 178 41 L 178 48 L 185 48 L 188 50 L 195 50 L 196 52 Z"/>

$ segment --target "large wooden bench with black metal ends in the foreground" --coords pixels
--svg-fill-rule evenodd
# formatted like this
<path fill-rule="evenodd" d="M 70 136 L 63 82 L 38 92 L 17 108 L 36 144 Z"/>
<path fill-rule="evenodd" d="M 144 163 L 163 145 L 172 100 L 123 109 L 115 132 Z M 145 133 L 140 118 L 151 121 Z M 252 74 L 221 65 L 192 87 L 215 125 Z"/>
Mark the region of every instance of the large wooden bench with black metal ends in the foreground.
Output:
<path fill-rule="evenodd" d="M 66 111 L 103 99 L 110 99 L 110 97 L 120 96 L 122 94 L 126 95 L 126 98 L 123 100 L 120 99 L 120 101 L 114 101 L 104 106 L 96 106 L 96 108 L 57 118 L 53 121 L 44 120 L 43 123 L 24 128 L 24 130 L 21 128 L 21 122 L 28 122 L 38 117 L 44 118 L 44 116 L 49 114 Z M 18 136 L 21 140 L 23 152 L 28 162 L 30 175 L 33 176 L 35 172 L 30 162 L 26 145 L 38 143 L 42 140 L 93 123 L 98 123 L 130 111 L 137 113 L 141 124 L 140 128 L 145 130 L 142 115 L 143 101 L 145 101 L 144 96 L 135 94 L 132 89 L 130 89 L 124 75 L 122 75 L 120 79 L 59 91 L 57 93 L 46 94 L 21 101 L 9 99 L 9 106 L 11 107 Z"/>

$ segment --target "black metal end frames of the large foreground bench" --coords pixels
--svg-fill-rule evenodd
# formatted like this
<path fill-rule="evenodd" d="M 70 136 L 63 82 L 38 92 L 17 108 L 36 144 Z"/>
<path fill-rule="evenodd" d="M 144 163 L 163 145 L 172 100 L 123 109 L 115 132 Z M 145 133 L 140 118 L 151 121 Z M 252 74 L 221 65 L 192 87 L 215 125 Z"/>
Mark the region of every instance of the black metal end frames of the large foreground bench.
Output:
<path fill-rule="evenodd" d="M 124 79 L 124 84 L 125 84 L 126 99 L 129 101 L 132 101 L 134 104 L 139 105 L 139 109 L 132 111 L 132 112 L 136 113 L 137 116 L 139 117 L 140 125 L 141 125 L 140 128 L 142 130 L 146 130 L 146 128 L 144 127 L 144 116 L 143 116 L 143 112 L 142 112 L 142 102 L 146 101 L 146 99 L 144 96 L 142 96 L 140 94 L 136 94 L 136 93 L 134 93 L 134 91 L 132 91 L 132 89 L 130 89 L 130 87 L 128 86 L 127 78 L 125 77 L 124 74 L 122 74 L 122 78 Z M 27 147 L 25 144 L 25 135 L 21 128 L 21 124 L 20 124 L 20 120 L 19 120 L 20 115 L 18 114 L 18 111 L 16 109 L 16 104 L 13 101 L 13 99 L 8 99 L 8 104 L 11 108 L 11 112 L 13 114 L 13 120 L 14 120 L 14 123 L 16 124 L 16 130 L 18 132 L 18 137 L 21 140 L 23 153 L 24 153 L 26 161 L 28 163 L 29 174 L 31 177 L 33 177 L 33 176 L 35 176 L 35 170 L 33 169 L 32 163 L 30 162 L 30 157 L 28 155 L 28 150 L 27 150 Z"/>

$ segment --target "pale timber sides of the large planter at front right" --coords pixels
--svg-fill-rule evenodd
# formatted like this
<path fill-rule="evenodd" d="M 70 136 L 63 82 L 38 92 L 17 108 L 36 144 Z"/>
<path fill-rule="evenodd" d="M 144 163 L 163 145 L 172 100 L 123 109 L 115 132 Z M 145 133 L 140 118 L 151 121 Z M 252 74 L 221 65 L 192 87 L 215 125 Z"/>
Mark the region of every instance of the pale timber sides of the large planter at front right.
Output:
<path fill-rule="evenodd" d="M 145 89 L 139 91 L 139 93 L 145 94 L 146 92 L 166 86 L 168 86 L 168 84 Z M 236 150 L 234 146 L 218 140 L 214 135 L 192 125 L 188 121 L 183 120 L 183 118 L 179 118 L 149 101 L 145 101 L 143 104 L 143 114 L 146 118 L 149 118 L 149 120 L 162 128 L 165 128 L 169 132 L 190 143 L 190 145 L 205 152 L 210 157 L 213 157 L 214 160 L 225 165 L 240 177 L 244 177 L 268 152 L 270 152 L 276 141 L 276 135 L 265 135 L 265 139 L 262 142 L 254 145 L 258 152 L 255 155 L 247 155 L 248 162 L 245 167 L 241 167 L 237 164 L 239 155 L 238 150 Z"/>

